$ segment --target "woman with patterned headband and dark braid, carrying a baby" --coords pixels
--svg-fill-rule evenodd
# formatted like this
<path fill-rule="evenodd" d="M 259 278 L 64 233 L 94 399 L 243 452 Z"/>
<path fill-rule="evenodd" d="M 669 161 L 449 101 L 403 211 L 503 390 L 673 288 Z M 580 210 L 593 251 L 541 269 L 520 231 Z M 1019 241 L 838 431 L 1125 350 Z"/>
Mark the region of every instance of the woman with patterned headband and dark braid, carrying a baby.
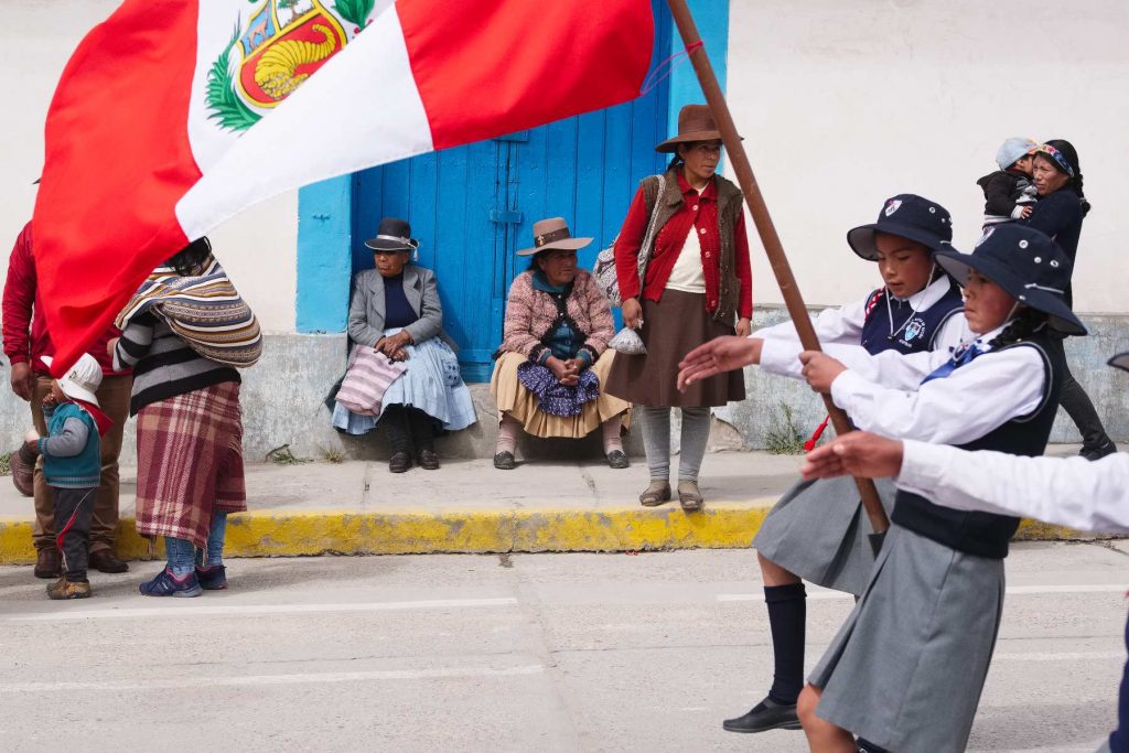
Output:
<path fill-rule="evenodd" d="M 1053 238 L 1073 265 L 1078 253 L 1082 222 L 1089 213 L 1089 202 L 1083 193 L 1078 152 L 1069 141 L 1053 139 L 1035 150 L 1032 170 L 1039 203 L 1022 222 Z M 1066 301 L 1074 305 L 1074 292 L 1069 284 L 1066 287 Z M 1062 382 L 1062 408 L 1082 432 L 1079 455 L 1096 461 L 1117 452 L 1113 440 L 1105 434 L 1094 403 L 1074 378 L 1069 365 Z"/>

